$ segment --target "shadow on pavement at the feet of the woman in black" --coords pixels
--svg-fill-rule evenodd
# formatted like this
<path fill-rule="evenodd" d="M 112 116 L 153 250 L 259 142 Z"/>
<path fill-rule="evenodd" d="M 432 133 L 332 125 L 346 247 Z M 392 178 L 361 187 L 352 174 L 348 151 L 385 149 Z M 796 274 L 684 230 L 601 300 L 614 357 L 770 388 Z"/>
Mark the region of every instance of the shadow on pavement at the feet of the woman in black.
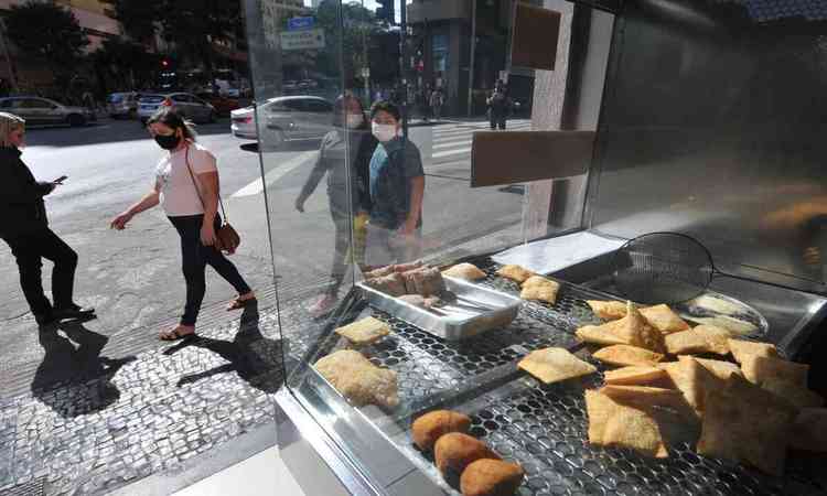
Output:
<path fill-rule="evenodd" d="M 135 356 L 100 356 L 109 338 L 79 322 L 42 328 L 37 339 L 45 356 L 32 380 L 35 398 L 64 418 L 104 410 L 118 401 L 120 390 L 111 379 Z"/>

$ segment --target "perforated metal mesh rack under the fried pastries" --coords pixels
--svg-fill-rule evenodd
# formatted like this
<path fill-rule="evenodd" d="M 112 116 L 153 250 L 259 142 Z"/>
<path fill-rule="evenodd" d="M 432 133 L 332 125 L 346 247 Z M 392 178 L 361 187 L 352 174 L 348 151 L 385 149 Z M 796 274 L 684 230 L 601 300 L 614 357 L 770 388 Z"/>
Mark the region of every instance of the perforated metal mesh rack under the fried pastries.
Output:
<path fill-rule="evenodd" d="M 490 259 L 473 262 L 488 273 L 481 281 L 483 284 L 518 292 L 516 284 L 493 274 L 497 267 Z M 790 461 L 788 475 L 775 478 L 739 464 L 699 456 L 688 443 L 670 446 L 667 460 L 589 445 L 583 389 L 602 384 L 601 374 L 582 382 L 552 386 L 537 386 L 522 378 L 515 364 L 543 347 L 573 349 L 578 346 L 574 330 L 600 322 L 586 300 L 605 298 L 563 283 L 555 305 L 525 302 L 508 327 L 459 343 L 368 309 L 367 313 L 390 325 L 391 335 L 363 352 L 375 365 L 398 374 L 402 406 L 394 417 L 399 425 L 409 425 L 411 413 L 434 407 L 453 406 L 469 412 L 473 420 L 471 433 L 526 471 L 518 493 L 522 496 L 826 494 L 827 486 L 807 478 L 804 465 L 795 459 Z M 329 353 L 343 345 L 332 333 L 318 349 Z M 486 381 L 492 386 L 483 387 L 484 393 L 475 397 L 471 389 Z M 508 392 L 494 393 L 492 389 Z M 414 455 L 422 456 L 418 452 Z"/>

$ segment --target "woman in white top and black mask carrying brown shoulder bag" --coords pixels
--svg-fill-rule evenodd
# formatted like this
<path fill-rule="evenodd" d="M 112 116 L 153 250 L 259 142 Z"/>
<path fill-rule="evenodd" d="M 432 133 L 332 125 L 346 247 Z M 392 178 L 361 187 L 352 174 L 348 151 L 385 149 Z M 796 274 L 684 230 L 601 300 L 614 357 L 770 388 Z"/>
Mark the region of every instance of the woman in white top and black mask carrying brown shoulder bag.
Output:
<path fill-rule="evenodd" d="M 192 127 L 173 109 L 162 109 L 147 125 L 155 142 L 168 153 L 158 164 L 152 191 L 115 217 L 111 227 L 123 229 L 135 215 L 160 203 L 181 235 L 186 305 L 180 324 L 159 336 L 173 341 L 195 333 L 195 321 L 206 291 L 204 270 L 207 265 L 238 291 L 238 298 L 227 310 L 244 308 L 254 302 L 256 295 L 233 262 L 215 248 L 215 231 L 221 226 L 215 155 L 195 142 Z"/>

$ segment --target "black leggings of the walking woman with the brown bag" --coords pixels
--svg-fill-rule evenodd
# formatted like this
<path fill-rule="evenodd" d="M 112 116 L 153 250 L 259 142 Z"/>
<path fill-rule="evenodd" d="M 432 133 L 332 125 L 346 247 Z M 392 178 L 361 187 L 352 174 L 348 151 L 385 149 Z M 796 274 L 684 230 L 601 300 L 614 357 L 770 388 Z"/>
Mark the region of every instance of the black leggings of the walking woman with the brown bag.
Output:
<path fill-rule="evenodd" d="M 238 294 L 250 292 L 250 287 L 238 273 L 238 269 L 232 261 L 213 246 L 204 246 L 201 242 L 201 225 L 204 222 L 204 215 L 186 215 L 180 217 L 169 217 L 170 222 L 178 234 L 181 235 L 181 261 L 186 280 L 186 306 L 184 314 L 181 315 L 182 325 L 195 325 L 198 319 L 201 303 L 204 301 L 206 292 L 206 279 L 204 269 L 208 265 L 225 281 L 233 284 Z M 218 230 L 221 219 L 215 216 L 215 230 Z"/>

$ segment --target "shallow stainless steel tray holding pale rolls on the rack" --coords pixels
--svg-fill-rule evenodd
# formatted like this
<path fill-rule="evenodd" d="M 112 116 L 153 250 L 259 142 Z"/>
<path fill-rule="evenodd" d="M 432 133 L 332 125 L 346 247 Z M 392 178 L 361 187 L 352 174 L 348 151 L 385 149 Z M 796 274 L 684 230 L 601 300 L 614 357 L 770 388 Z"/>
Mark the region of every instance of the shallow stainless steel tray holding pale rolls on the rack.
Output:
<path fill-rule="evenodd" d="M 492 328 L 505 327 L 517 316 L 522 304 L 519 298 L 461 279 L 444 279 L 448 291 L 455 299 L 437 309 L 411 305 L 362 282 L 356 285 L 376 309 L 449 341 L 464 339 Z"/>

